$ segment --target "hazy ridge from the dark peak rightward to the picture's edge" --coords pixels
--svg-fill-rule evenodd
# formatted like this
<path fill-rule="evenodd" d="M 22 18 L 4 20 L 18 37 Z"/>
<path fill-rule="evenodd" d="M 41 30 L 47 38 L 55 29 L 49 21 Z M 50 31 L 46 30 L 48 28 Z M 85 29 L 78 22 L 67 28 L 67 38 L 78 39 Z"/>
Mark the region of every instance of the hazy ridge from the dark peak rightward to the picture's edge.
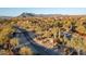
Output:
<path fill-rule="evenodd" d="M 86 15 L 63 15 L 63 14 L 35 14 L 35 13 L 22 13 L 21 15 L 19 15 L 17 17 L 50 17 L 50 16 L 57 16 L 57 17 L 81 17 L 81 16 L 86 16 Z"/>

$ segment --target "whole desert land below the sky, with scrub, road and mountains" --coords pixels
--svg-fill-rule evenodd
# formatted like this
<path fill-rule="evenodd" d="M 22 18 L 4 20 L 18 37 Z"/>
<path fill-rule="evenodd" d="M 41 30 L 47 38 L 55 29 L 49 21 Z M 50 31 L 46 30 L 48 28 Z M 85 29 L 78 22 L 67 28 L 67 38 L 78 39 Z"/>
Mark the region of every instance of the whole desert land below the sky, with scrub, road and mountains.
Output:
<path fill-rule="evenodd" d="M 86 15 L 0 16 L 0 55 L 86 55 Z"/>

